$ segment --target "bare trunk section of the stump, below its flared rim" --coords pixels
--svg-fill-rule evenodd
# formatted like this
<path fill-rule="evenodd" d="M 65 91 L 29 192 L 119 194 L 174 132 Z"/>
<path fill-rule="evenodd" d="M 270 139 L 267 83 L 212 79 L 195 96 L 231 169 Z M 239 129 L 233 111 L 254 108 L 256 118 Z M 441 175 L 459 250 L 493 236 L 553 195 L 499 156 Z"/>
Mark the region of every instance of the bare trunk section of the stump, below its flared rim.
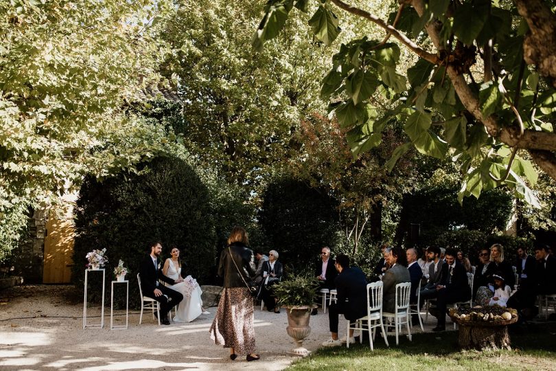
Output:
<path fill-rule="evenodd" d="M 459 346 L 476 350 L 511 350 L 508 326 L 459 326 Z"/>

